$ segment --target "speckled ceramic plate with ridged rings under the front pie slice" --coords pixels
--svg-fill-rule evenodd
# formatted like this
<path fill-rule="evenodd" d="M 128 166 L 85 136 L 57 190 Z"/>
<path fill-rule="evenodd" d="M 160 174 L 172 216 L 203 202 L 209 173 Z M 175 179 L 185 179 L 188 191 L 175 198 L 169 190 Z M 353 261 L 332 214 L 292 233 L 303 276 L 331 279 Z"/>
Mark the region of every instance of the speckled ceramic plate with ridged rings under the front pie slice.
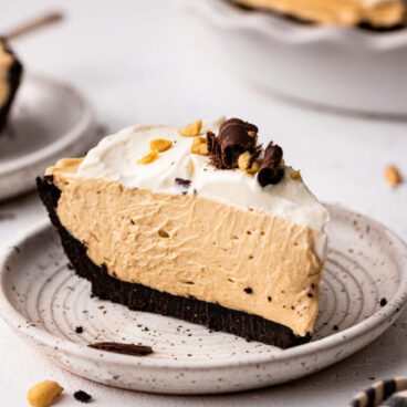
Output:
<path fill-rule="evenodd" d="M 92 299 L 90 283 L 67 268 L 48 222 L 3 253 L 0 314 L 51 361 L 111 386 L 204 394 L 292 380 L 366 346 L 395 322 L 407 301 L 406 244 L 372 219 L 328 208 L 321 312 L 313 342 L 305 345 L 281 351 Z M 83 326 L 82 334 L 76 326 Z M 101 341 L 150 345 L 154 354 L 134 357 L 86 346 Z"/>

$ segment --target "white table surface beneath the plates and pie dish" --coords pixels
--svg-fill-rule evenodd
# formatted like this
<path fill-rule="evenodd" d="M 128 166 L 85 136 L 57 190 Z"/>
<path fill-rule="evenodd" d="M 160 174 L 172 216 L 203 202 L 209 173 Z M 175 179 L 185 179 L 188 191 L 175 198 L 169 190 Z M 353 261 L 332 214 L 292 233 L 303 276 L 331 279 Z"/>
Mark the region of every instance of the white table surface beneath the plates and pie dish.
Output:
<path fill-rule="evenodd" d="M 198 0 L 194 0 L 198 1 Z M 407 240 L 407 184 L 384 181 L 396 164 L 407 178 L 407 122 L 341 116 L 272 98 L 222 66 L 209 39 L 174 0 L 17 0 L 2 4 L 0 32 L 49 9 L 66 11 L 60 25 L 14 43 L 28 71 L 75 84 L 98 123 L 117 131 L 136 123 L 187 124 L 221 114 L 259 125 L 284 148 L 322 200 L 369 215 Z M 213 51 L 213 52 L 212 52 Z M 334 97 L 334 95 L 333 95 Z M 35 194 L 0 204 L 0 249 L 44 220 Z M 346 406 L 374 379 L 407 375 L 407 314 L 374 344 L 309 378 L 236 395 L 174 397 L 108 388 L 76 377 L 34 353 L 0 322 L 0 405 L 25 406 L 27 390 L 45 378 L 65 387 L 58 406 Z"/>

